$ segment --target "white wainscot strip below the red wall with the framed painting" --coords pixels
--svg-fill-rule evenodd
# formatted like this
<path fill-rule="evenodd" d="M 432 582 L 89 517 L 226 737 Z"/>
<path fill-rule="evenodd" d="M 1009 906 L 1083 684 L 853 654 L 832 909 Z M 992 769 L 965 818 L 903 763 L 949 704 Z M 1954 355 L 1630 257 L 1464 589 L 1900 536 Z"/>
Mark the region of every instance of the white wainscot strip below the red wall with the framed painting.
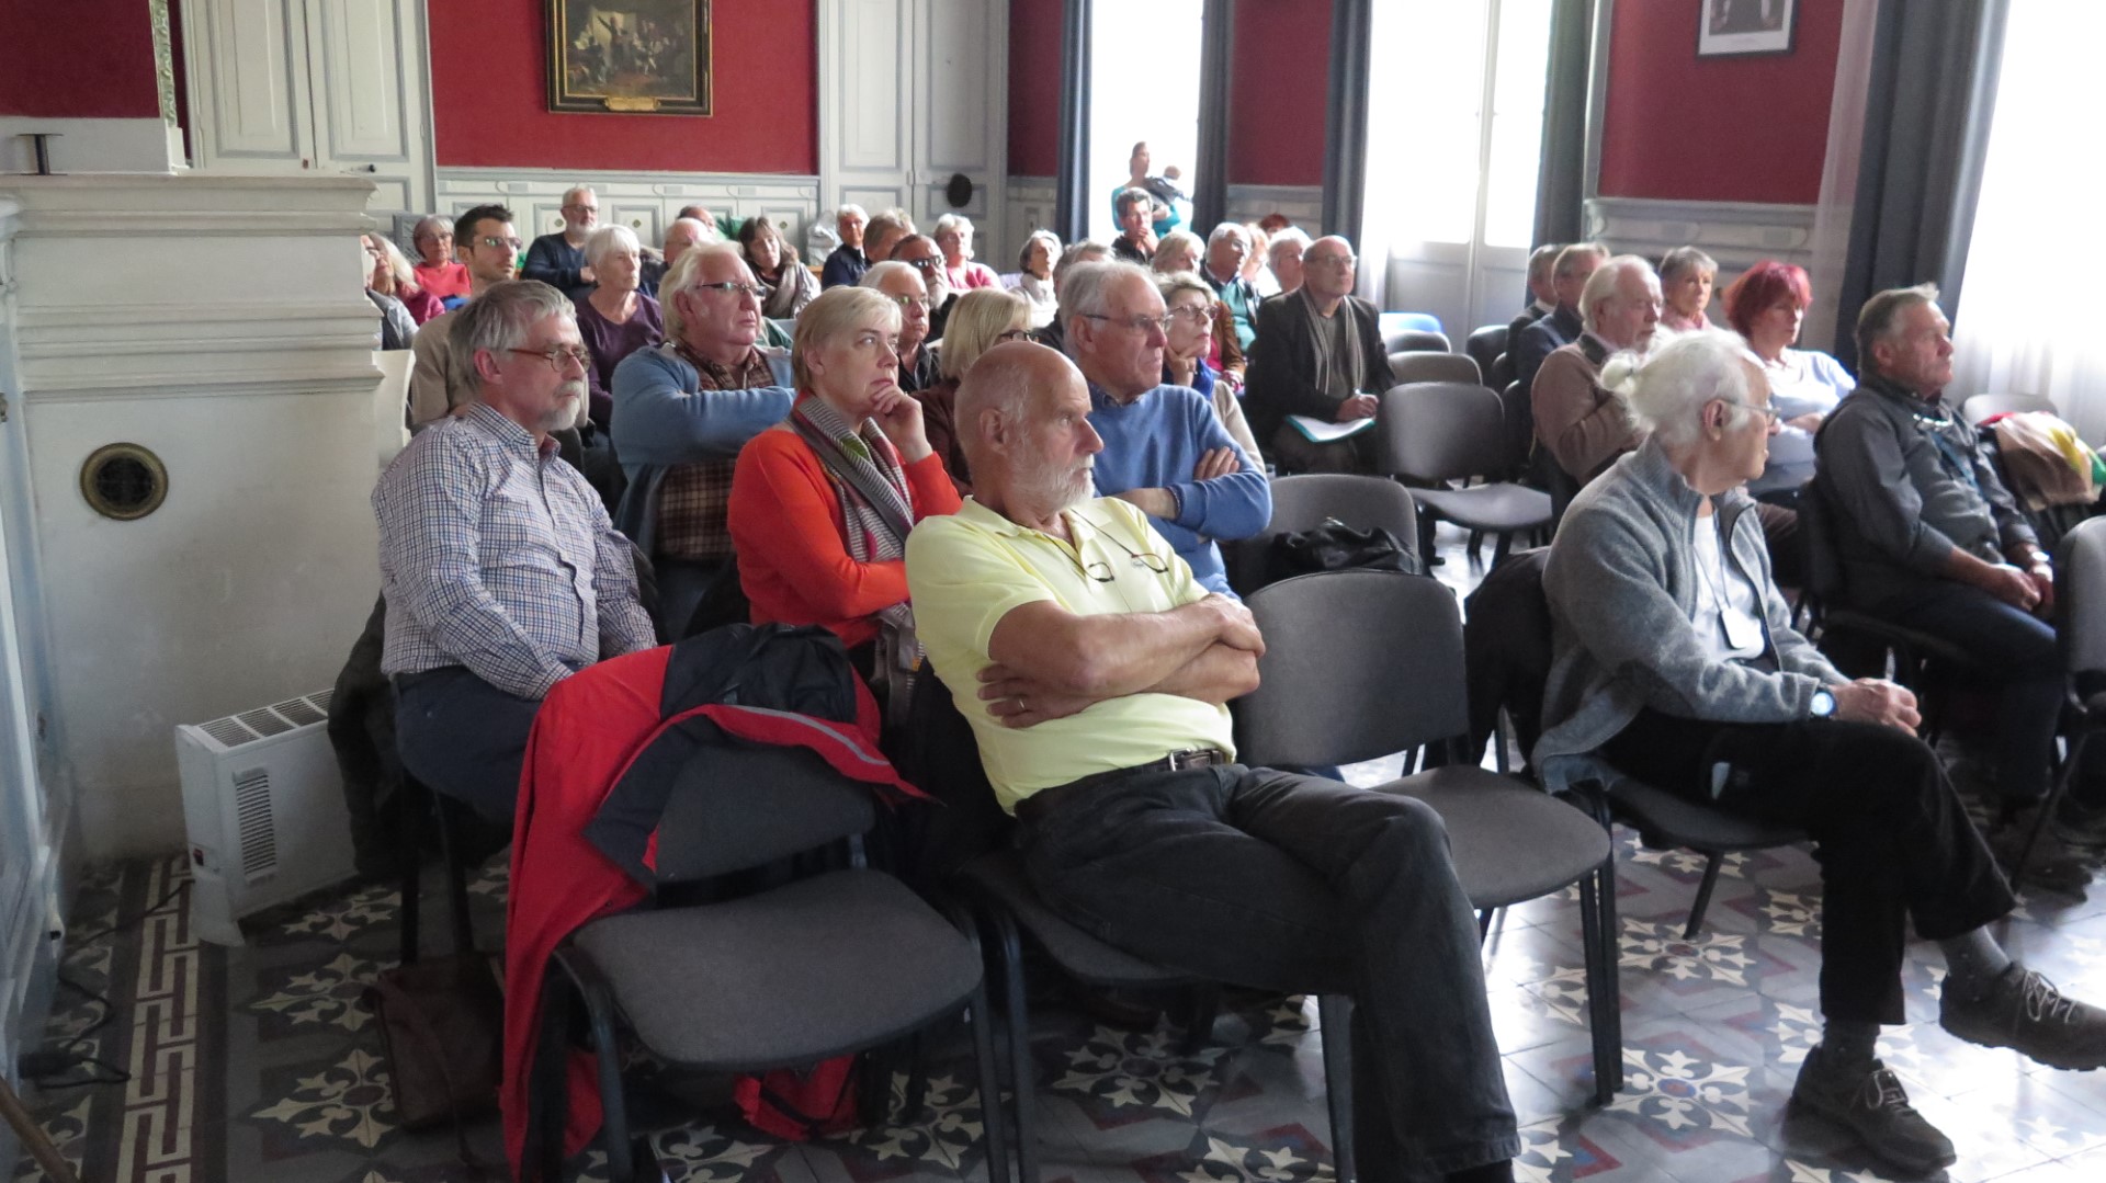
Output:
<path fill-rule="evenodd" d="M 457 215 L 468 206 L 501 202 L 518 219 L 520 238 L 562 229 L 562 194 L 592 185 L 600 198 L 600 221 L 628 225 L 657 246 L 680 206 L 699 204 L 716 217 L 767 217 L 786 227 L 790 242 L 819 217 L 819 179 L 773 173 L 607 173 L 571 168 L 440 168 L 438 213 Z M 398 227 L 409 240 L 409 227 Z"/>

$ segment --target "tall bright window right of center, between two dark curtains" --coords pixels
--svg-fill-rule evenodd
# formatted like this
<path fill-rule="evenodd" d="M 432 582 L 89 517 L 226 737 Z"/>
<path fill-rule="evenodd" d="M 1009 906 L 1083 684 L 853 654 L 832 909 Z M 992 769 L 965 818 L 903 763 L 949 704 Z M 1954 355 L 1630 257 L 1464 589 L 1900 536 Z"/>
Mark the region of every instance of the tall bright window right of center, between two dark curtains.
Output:
<path fill-rule="evenodd" d="M 1550 6 L 1375 4 L 1360 288 L 1451 337 L 1525 301 Z"/>

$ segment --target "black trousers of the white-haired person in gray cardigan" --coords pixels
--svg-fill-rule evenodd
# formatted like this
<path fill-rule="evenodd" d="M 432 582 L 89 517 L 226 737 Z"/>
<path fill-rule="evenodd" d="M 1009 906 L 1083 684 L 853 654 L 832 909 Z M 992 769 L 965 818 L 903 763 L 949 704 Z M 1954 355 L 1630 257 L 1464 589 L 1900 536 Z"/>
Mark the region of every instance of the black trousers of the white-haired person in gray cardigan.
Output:
<path fill-rule="evenodd" d="M 1729 813 L 1813 836 L 1822 865 L 1822 1015 L 1902 1023 L 1904 918 L 1944 941 L 2013 905 L 1938 754 L 1868 722 L 1706 722 L 1645 709 L 1603 756 Z M 1712 764 L 1733 768 L 1712 800 Z"/>

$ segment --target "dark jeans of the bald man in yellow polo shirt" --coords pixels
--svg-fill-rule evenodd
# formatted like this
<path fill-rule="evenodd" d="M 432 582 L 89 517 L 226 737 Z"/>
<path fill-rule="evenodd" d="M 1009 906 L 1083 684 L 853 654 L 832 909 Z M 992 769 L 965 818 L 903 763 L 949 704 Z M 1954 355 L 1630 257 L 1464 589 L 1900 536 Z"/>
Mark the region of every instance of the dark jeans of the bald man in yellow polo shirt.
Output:
<path fill-rule="evenodd" d="M 1354 1000 L 1360 1177 L 1514 1158 L 1476 920 L 1413 798 L 1245 768 L 1129 768 L 1017 806 L 1032 886 L 1097 939 L 1211 979 Z"/>

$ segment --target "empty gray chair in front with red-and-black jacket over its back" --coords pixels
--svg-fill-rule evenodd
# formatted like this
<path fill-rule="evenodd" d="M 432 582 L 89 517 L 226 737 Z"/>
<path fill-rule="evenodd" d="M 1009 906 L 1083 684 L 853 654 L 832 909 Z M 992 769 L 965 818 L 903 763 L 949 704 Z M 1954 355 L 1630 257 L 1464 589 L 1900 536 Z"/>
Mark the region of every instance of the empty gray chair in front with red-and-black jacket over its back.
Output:
<path fill-rule="evenodd" d="M 861 865 L 874 825 L 870 791 L 813 751 L 724 747 L 680 773 L 657 834 L 659 888 L 821 848 L 847 846 L 849 865 L 720 903 L 607 916 L 556 949 L 543 1038 L 560 1038 L 571 1000 L 583 1000 L 609 1179 L 659 1177 L 638 1172 L 630 1143 L 617 1019 L 661 1061 L 767 1071 L 893 1044 L 960 1012 L 988 1114 L 988 1179 L 1009 1179 L 979 939 L 967 916 L 939 916 Z"/>

